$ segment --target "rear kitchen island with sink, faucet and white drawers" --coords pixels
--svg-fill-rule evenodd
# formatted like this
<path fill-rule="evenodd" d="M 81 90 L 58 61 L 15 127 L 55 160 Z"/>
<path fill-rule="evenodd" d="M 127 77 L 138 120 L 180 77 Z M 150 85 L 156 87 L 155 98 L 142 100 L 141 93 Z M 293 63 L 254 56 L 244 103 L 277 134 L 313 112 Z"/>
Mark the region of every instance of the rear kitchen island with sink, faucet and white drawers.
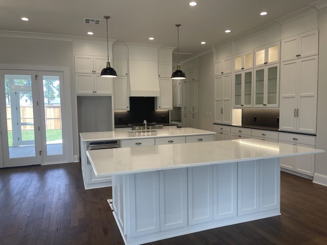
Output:
<path fill-rule="evenodd" d="M 140 147 L 159 144 L 212 141 L 216 132 L 194 128 L 164 128 L 151 131 L 107 131 L 80 133 L 81 168 L 85 189 L 111 186 L 111 177 L 97 177 L 86 150 L 97 148 Z"/>

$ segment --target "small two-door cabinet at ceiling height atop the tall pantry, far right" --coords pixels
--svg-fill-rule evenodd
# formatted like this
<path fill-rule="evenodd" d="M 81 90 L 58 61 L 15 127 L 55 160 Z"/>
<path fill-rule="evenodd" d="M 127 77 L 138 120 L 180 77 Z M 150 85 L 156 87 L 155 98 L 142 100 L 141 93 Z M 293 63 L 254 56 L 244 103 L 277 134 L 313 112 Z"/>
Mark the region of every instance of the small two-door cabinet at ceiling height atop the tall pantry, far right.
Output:
<path fill-rule="evenodd" d="M 318 54 L 318 30 L 282 40 L 282 61 L 305 58 Z"/>

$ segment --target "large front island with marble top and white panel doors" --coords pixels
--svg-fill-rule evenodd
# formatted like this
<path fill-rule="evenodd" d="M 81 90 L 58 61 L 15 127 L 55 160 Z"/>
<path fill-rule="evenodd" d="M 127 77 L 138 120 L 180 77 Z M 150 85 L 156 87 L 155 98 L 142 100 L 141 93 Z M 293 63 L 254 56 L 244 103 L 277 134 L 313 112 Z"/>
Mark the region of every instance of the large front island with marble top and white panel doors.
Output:
<path fill-rule="evenodd" d="M 87 151 L 113 176 L 113 215 L 126 244 L 280 214 L 279 159 L 322 153 L 257 139 Z"/>

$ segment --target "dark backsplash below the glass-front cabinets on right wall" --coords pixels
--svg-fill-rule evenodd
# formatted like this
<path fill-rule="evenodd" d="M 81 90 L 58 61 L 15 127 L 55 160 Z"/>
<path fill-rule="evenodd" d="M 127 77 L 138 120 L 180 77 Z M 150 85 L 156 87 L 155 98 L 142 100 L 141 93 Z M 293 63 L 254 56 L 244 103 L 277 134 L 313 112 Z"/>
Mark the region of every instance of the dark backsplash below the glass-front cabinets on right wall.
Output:
<path fill-rule="evenodd" d="M 242 109 L 242 125 L 279 128 L 279 110 Z"/>

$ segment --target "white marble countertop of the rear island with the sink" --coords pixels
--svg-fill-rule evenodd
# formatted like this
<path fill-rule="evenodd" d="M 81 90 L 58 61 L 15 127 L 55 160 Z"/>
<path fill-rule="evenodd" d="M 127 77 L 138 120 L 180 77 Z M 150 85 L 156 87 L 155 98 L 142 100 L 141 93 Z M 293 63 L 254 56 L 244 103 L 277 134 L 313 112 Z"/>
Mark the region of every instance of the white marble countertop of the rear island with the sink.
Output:
<path fill-rule="evenodd" d="M 158 129 L 148 132 L 131 132 L 131 131 L 107 131 L 107 132 L 90 132 L 80 133 L 82 141 L 101 141 L 101 140 L 118 140 L 133 138 L 159 138 L 170 136 L 189 136 L 189 135 L 206 135 L 216 134 L 216 132 L 206 131 L 194 128 L 168 128 Z"/>

